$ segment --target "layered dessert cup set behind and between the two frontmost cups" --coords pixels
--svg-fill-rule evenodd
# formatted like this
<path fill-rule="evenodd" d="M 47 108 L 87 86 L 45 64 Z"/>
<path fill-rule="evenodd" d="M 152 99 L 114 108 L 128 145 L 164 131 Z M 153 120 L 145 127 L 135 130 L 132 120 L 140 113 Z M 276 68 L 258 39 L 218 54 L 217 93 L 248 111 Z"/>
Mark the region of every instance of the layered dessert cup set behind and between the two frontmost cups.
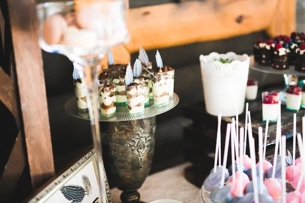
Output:
<path fill-rule="evenodd" d="M 113 84 L 116 85 L 116 104 L 126 105 L 127 95 L 125 89 L 125 75 L 118 73 L 113 76 Z"/>

